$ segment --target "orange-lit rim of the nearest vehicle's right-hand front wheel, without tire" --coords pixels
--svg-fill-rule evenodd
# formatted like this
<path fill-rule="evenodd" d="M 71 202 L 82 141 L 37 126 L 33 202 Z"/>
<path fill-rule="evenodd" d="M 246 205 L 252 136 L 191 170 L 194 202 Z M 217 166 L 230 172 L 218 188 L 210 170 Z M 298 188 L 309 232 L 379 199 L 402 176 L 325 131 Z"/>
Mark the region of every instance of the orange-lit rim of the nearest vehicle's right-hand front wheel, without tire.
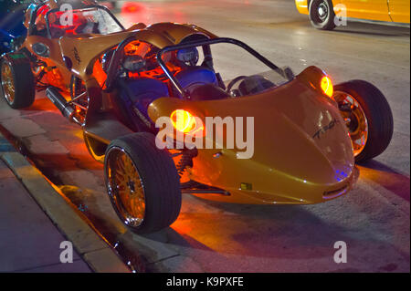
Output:
<path fill-rule="evenodd" d="M 346 92 L 336 91 L 333 98 L 339 105 L 342 118 L 353 143 L 353 153 L 356 157 L 364 151 L 368 140 L 368 120 L 364 109 L 352 95 Z"/>

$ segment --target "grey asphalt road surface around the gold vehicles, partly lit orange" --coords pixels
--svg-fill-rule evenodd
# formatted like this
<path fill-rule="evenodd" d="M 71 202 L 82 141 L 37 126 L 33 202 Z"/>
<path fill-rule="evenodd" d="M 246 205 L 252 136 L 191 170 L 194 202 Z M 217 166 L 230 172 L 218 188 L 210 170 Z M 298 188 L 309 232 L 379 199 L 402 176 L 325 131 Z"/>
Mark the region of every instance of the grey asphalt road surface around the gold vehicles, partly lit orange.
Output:
<path fill-rule="evenodd" d="M 124 24 L 194 23 L 238 38 L 299 73 L 315 65 L 334 83 L 360 78 L 387 97 L 395 120 L 384 154 L 360 166 L 348 195 L 304 206 L 211 203 L 184 194 L 171 228 L 145 237 L 117 219 L 102 166 L 92 161 L 81 130 L 39 94 L 25 110 L 0 103 L 0 123 L 23 141 L 49 179 L 79 206 L 138 270 L 170 272 L 409 272 L 409 28 L 349 23 L 332 32 L 311 28 L 293 1 L 144 1 L 119 15 Z M 226 52 L 229 57 L 230 52 Z M 238 66 L 244 66 L 242 59 Z M 333 244 L 348 245 L 336 264 Z M 126 250 L 126 251 L 124 251 Z M 143 265 L 140 265 L 142 259 Z"/>

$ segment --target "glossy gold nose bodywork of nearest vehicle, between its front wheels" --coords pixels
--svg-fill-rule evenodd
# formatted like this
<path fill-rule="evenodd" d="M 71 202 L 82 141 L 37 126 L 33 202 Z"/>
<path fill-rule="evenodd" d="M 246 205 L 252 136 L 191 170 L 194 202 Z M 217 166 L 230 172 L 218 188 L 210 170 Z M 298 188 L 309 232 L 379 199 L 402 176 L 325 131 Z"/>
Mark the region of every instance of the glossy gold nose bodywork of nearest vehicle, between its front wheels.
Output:
<path fill-rule="evenodd" d="M 308 68 L 288 84 L 239 99 L 157 99 L 149 107 L 149 116 L 157 120 L 175 109 L 185 109 L 198 117 L 254 117 L 251 159 L 237 159 L 237 149 L 198 151 L 190 178 L 231 193 L 206 195 L 207 199 L 321 203 L 348 192 L 357 173 L 353 145 L 336 104 L 306 80 L 314 73 Z M 332 129 L 319 139 L 313 138 L 330 124 Z M 225 132 L 217 131 L 216 135 L 225 136 Z M 216 158 L 217 152 L 221 155 Z"/>

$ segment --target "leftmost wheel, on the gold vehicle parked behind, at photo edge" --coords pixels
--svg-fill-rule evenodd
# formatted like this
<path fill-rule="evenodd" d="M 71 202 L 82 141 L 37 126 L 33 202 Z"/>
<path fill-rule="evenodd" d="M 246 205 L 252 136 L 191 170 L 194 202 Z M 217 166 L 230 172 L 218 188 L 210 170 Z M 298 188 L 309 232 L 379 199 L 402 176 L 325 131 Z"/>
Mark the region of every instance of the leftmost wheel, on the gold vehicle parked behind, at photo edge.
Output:
<path fill-rule="evenodd" d="M 36 85 L 29 60 L 22 54 L 8 54 L 0 64 L 1 84 L 5 101 L 12 109 L 31 106 Z"/>

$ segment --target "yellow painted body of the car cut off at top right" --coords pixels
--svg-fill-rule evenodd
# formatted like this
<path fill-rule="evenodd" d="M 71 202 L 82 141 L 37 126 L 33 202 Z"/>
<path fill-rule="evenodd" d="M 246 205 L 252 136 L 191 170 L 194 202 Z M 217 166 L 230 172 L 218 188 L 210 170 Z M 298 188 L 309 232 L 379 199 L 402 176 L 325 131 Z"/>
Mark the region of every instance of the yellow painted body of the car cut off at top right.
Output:
<path fill-rule="evenodd" d="M 300 14 L 309 14 L 310 0 L 295 0 L 295 4 Z M 409 0 L 332 0 L 332 5 L 344 5 L 351 18 L 410 23 Z"/>

